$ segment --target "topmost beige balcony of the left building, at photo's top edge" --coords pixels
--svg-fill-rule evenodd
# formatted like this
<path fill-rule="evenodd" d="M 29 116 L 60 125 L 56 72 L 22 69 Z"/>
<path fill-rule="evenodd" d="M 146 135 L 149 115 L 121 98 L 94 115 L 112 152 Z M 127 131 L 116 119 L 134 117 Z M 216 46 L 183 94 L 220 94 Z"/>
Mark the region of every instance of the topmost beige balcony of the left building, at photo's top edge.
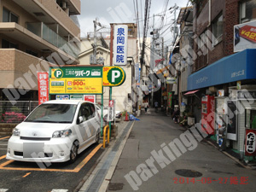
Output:
<path fill-rule="evenodd" d="M 70 34 L 73 38 L 79 39 L 80 28 L 69 17 L 69 13 L 80 14 L 80 11 L 76 9 L 76 7 L 80 7 L 79 0 L 67 1 L 72 5 L 69 6 L 68 13 L 53 0 L 14 0 L 14 2 L 44 23 L 59 24 L 59 34 L 61 34 L 62 37 Z M 73 7 L 73 9 L 71 9 L 71 7 Z"/>

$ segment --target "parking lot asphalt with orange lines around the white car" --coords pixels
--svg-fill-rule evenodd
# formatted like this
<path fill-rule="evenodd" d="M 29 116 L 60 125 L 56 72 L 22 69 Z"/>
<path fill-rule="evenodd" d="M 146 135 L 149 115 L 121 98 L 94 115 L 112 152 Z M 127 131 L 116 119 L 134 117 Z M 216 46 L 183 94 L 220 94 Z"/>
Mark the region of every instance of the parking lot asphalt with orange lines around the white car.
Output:
<path fill-rule="evenodd" d="M 1 139 L 0 137 L 0 159 L 6 154 L 7 142 L 8 138 Z M 97 147 L 98 145 L 94 144 L 84 150 L 82 154 L 79 154 L 78 160 L 72 165 L 67 163 L 53 164 L 44 171 L 41 171 L 36 163 L 14 161 L 3 166 L 3 163 L 9 162 L 3 158 L 0 160 L 0 191 L 73 191 L 90 169 L 96 165 L 96 161 L 103 152 L 102 148 L 99 148 L 87 163 L 84 163 L 84 161 Z"/>

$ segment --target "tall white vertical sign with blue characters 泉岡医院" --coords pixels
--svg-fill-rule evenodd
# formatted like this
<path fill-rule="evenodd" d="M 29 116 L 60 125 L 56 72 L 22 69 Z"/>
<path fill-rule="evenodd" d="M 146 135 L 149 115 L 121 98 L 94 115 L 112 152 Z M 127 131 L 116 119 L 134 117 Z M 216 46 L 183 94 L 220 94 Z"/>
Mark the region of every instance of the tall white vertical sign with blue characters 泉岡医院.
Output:
<path fill-rule="evenodd" d="M 114 26 L 113 35 L 113 64 L 125 66 L 127 64 L 128 26 Z"/>

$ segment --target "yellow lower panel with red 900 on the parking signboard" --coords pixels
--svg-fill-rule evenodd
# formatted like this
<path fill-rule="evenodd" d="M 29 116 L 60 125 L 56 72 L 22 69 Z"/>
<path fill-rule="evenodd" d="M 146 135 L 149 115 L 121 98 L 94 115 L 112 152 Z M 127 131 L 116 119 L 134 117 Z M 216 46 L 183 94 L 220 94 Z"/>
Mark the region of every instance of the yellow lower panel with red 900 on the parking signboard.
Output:
<path fill-rule="evenodd" d="M 102 93 L 102 79 L 63 78 L 49 79 L 49 94 Z"/>

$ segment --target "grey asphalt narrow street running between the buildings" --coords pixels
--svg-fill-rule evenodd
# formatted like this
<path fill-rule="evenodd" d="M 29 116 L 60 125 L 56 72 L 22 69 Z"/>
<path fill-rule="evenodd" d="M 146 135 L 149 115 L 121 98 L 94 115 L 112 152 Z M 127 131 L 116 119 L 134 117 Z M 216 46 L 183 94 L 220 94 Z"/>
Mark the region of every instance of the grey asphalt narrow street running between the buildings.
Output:
<path fill-rule="evenodd" d="M 162 143 L 167 145 L 179 138 L 184 131 L 186 129 L 175 124 L 171 117 L 167 117 L 164 113 L 154 113 L 153 109 L 150 114 L 143 113 L 140 121 L 136 121 L 131 130 L 108 191 L 132 191 L 131 185 L 125 179 L 125 175 L 131 171 L 137 172 L 138 177 L 134 177 L 134 174 L 130 177 L 131 183 L 135 184 L 133 189 L 137 191 L 253 191 L 255 189 L 256 172 L 237 164 L 206 140 L 197 143 L 194 150 L 187 150 L 163 168 L 156 160 L 155 167 L 147 166 L 143 169 L 141 168 L 143 166 L 139 166 L 142 163 L 147 165 L 145 161 L 154 156 L 151 154 L 154 150 L 159 152 Z M 167 158 L 166 154 L 163 154 Z M 155 168 L 158 170 L 156 174 L 154 174 Z M 146 171 L 150 171 L 151 174 Z M 243 177 L 247 180 L 245 184 L 241 184 Z"/>

